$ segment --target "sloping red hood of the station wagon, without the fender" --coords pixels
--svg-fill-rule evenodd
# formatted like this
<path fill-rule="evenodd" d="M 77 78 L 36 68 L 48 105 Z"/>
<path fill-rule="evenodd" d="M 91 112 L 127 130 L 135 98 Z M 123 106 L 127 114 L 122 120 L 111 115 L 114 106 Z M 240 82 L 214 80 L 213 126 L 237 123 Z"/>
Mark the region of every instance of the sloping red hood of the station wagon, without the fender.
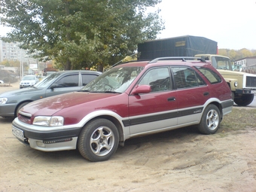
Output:
<path fill-rule="evenodd" d="M 62 109 L 72 108 L 84 103 L 99 103 L 102 99 L 106 99 L 112 96 L 117 96 L 117 93 L 84 93 L 84 92 L 72 92 L 65 93 L 58 96 L 50 96 L 44 99 L 30 102 L 23 107 L 23 112 L 37 115 L 53 115 Z M 90 106 L 91 106 L 90 105 Z M 88 105 L 89 106 L 89 105 Z M 96 107 L 96 105 L 93 105 Z"/>

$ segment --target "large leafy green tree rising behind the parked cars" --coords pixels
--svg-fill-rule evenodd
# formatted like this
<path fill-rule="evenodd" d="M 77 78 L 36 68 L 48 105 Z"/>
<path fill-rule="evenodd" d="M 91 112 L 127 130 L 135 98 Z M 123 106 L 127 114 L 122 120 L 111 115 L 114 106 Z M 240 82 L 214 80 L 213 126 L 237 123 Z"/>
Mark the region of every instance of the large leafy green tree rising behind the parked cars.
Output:
<path fill-rule="evenodd" d="M 18 41 L 61 69 L 111 65 L 155 39 L 162 30 L 161 0 L 5 0 L 0 22 L 13 28 L 4 41 Z"/>

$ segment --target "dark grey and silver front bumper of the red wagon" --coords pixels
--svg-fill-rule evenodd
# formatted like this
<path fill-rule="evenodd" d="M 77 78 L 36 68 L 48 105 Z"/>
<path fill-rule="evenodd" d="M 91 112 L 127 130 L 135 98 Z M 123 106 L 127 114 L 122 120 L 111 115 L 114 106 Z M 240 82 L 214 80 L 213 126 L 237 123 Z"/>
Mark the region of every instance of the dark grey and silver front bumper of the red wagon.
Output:
<path fill-rule="evenodd" d="M 32 129 L 29 129 L 29 126 Z M 54 127 L 45 127 L 45 131 L 42 130 L 42 126 L 28 125 L 20 122 L 18 118 L 15 118 L 12 123 L 12 129 L 14 136 L 21 142 L 28 144 L 31 148 L 35 148 L 39 151 L 64 151 L 72 150 L 77 146 L 78 135 L 81 128 L 70 129 L 55 129 Z M 23 136 L 17 136 L 15 130 L 20 130 Z"/>

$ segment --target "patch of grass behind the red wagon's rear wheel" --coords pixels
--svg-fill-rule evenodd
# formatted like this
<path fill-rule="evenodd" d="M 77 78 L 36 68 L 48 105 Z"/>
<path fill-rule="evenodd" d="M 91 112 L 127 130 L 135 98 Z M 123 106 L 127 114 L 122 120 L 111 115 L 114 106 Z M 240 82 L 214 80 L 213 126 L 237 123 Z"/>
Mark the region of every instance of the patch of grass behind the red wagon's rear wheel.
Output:
<path fill-rule="evenodd" d="M 233 108 L 221 122 L 221 133 L 256 127 L 256 108 Z M 221 134 L 220 133 L 220 134 Z"/>

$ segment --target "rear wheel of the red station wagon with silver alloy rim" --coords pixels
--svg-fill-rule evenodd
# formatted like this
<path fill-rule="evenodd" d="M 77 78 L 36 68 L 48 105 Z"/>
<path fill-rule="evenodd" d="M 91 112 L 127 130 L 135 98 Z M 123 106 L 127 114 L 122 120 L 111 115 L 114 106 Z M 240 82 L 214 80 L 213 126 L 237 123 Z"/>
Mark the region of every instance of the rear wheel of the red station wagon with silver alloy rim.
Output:
<path fill-rule="evenodd" d="M 203 111 L 203 115 L 198 125 L 198 130 L 206 135 L 217 132 L 221 124 L 220 110 L 216 105 L 208 105 Z"/>

